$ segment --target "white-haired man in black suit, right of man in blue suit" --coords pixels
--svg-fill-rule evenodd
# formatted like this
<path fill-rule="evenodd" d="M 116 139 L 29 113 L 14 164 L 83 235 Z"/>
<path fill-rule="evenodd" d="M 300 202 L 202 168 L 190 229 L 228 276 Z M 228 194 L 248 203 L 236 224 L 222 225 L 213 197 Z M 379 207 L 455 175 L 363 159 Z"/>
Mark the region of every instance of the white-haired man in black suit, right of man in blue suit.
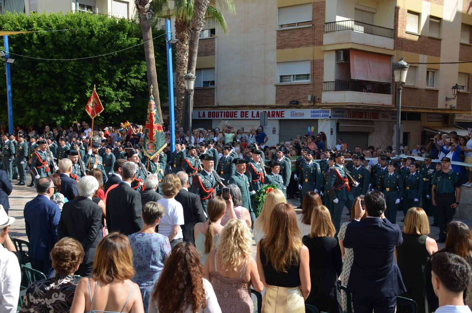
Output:
<path fill-rule="evenodd" d="M 60 162 L 67 159 L 62 159 Z M 75 181 L 74 181 L 75 182 Z M 82 243 L 84 248 L 84 261 L 79 265 L 76 275 L 85 277 L 92 275 L 95 250 L 101 238 L 101 208 L 92 201 L 95 191 L 98 190 L 98 182 L 93 176 L 85 176 L 78 183 L 79 197 L 71 200 L 62 207 L 59 219 L 58 237 L 72 237 Z"/>

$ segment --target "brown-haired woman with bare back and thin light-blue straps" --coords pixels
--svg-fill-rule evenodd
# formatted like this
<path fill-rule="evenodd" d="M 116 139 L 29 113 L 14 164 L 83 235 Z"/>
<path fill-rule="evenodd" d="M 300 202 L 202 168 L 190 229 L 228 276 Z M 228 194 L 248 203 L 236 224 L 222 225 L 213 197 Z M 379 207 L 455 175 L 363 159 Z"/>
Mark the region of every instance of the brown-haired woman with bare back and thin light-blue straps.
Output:
<path fill-rule="evenodd" d="M 77 284 L 70 312 L 143 313 L 141 291 L 130 280 L 134 275 L 128 237 L 117 232 L 107 235 L 98 243 L 92 276 Z"/>

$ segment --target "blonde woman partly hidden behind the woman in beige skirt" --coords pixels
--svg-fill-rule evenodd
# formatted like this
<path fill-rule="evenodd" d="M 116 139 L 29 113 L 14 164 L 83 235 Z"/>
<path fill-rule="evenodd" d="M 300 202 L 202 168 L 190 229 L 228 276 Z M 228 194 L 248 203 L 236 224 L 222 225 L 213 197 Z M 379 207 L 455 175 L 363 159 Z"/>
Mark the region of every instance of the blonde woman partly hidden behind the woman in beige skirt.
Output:
<path fill-rule="evenodd" d="M 269 234 L 270 231 L 270 215 L 274 207 L 279 203 L 287 203 L 287 199 L 285 198 L 285 194 L 280 189 L 274 189 L 270 191 L 262 206 L 261 214 L 256 218 L 254 221 L 254 240 L 256 243 L 261 241 L 262 238 Z"/>

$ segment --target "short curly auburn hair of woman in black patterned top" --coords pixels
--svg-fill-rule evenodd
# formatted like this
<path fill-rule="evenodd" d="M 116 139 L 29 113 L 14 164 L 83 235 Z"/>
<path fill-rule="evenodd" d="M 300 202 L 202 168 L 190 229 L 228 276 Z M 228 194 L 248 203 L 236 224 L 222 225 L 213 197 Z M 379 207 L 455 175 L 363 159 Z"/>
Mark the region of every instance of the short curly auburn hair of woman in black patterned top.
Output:
<path fill-rule="evenodd" d="M 84 248 L 78 240 L 64 237 L 51 250 L 52 268 L 58 274 L 74 274 L 84 261 Z"/>

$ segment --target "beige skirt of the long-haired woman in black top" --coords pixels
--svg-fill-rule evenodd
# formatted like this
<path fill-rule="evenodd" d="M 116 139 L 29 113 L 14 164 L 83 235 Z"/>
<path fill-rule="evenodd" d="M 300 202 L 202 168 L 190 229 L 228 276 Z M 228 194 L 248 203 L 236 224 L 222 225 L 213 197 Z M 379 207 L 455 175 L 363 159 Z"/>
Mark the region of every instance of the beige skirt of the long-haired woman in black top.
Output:
<path fill-rule="evenodd" d="M 305 302 L 300 287 L 267 286 L 262 299 L 262 313 L 304 313 Z"/>

